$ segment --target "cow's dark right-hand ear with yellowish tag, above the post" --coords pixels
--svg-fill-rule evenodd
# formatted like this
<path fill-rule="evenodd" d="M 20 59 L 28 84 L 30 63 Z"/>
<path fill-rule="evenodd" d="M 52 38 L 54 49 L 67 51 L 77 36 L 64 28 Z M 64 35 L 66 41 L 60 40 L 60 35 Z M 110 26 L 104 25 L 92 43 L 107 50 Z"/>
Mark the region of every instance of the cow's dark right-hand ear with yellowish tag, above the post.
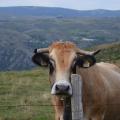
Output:
<path fill-rule="evenodd" d="M 96 63 L 96 59 L 93 55 L 78 56 L 76 64 L 82 68 L 89 68 Z"/>

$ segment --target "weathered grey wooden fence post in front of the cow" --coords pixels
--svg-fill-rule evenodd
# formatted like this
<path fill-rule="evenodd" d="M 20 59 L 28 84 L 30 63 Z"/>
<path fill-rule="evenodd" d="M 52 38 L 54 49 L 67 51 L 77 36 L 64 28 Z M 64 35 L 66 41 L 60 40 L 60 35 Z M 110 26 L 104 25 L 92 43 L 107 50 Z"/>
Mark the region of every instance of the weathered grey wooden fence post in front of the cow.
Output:
<path fill-rule="evenodd" d="M 71 98 L 72 120 L 83 120 L 82 80 L 77 74 L 71 75 L 73 95 Z"/>

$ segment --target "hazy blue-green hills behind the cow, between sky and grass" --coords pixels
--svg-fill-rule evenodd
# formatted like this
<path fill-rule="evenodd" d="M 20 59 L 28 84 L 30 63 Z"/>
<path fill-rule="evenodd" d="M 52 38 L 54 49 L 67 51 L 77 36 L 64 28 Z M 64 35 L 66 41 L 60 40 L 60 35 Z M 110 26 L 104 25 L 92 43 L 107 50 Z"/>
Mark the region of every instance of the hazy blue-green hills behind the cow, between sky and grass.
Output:
<path fill-rule="evenodd" d="M 45 16 L 35 16 L 41 10 Z M 80 48 L 120 41 L 120 17 L 97 17 L 96 12 L 103 14 L 105 10 L 93 10 L 96 17 L 68 18 L 62 17 L 61 11 L 65 16 L 80 14 L 63 8 L 0 8 L 0 71 L 35 67 L 31 61 L 33 50 L 48 47 L 57 40 L 72 41 Z"/>

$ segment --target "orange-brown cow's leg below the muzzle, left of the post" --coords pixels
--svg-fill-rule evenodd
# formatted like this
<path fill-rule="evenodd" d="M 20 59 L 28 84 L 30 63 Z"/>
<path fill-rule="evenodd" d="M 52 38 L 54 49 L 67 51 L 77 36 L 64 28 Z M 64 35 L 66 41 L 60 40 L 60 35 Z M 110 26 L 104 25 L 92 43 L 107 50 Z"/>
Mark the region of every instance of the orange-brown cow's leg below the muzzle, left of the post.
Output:
<path fill-rule="evenodd" d="M 64 106 L 60 97 L 52 96 L 52 103 L 55 109 L 55 120 L 63 120 Z"/>

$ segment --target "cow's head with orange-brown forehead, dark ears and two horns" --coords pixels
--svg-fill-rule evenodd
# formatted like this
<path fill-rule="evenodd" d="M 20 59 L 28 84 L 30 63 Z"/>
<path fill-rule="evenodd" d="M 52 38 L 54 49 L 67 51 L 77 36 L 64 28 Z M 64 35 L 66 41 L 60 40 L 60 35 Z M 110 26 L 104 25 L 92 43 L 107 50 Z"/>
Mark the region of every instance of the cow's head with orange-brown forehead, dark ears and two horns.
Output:
<path fill-rule="evenodd" d="M 71 74 L 76 73 L 77 66 L 93 66 L 96 63 L 94 55 L 99 51 L 84 51 L 71 42 L 55 42 L 49 48 L 35 49 L 32 60 L 40 66 L 49 67 L 51 94 L 72 95 Z"/>

